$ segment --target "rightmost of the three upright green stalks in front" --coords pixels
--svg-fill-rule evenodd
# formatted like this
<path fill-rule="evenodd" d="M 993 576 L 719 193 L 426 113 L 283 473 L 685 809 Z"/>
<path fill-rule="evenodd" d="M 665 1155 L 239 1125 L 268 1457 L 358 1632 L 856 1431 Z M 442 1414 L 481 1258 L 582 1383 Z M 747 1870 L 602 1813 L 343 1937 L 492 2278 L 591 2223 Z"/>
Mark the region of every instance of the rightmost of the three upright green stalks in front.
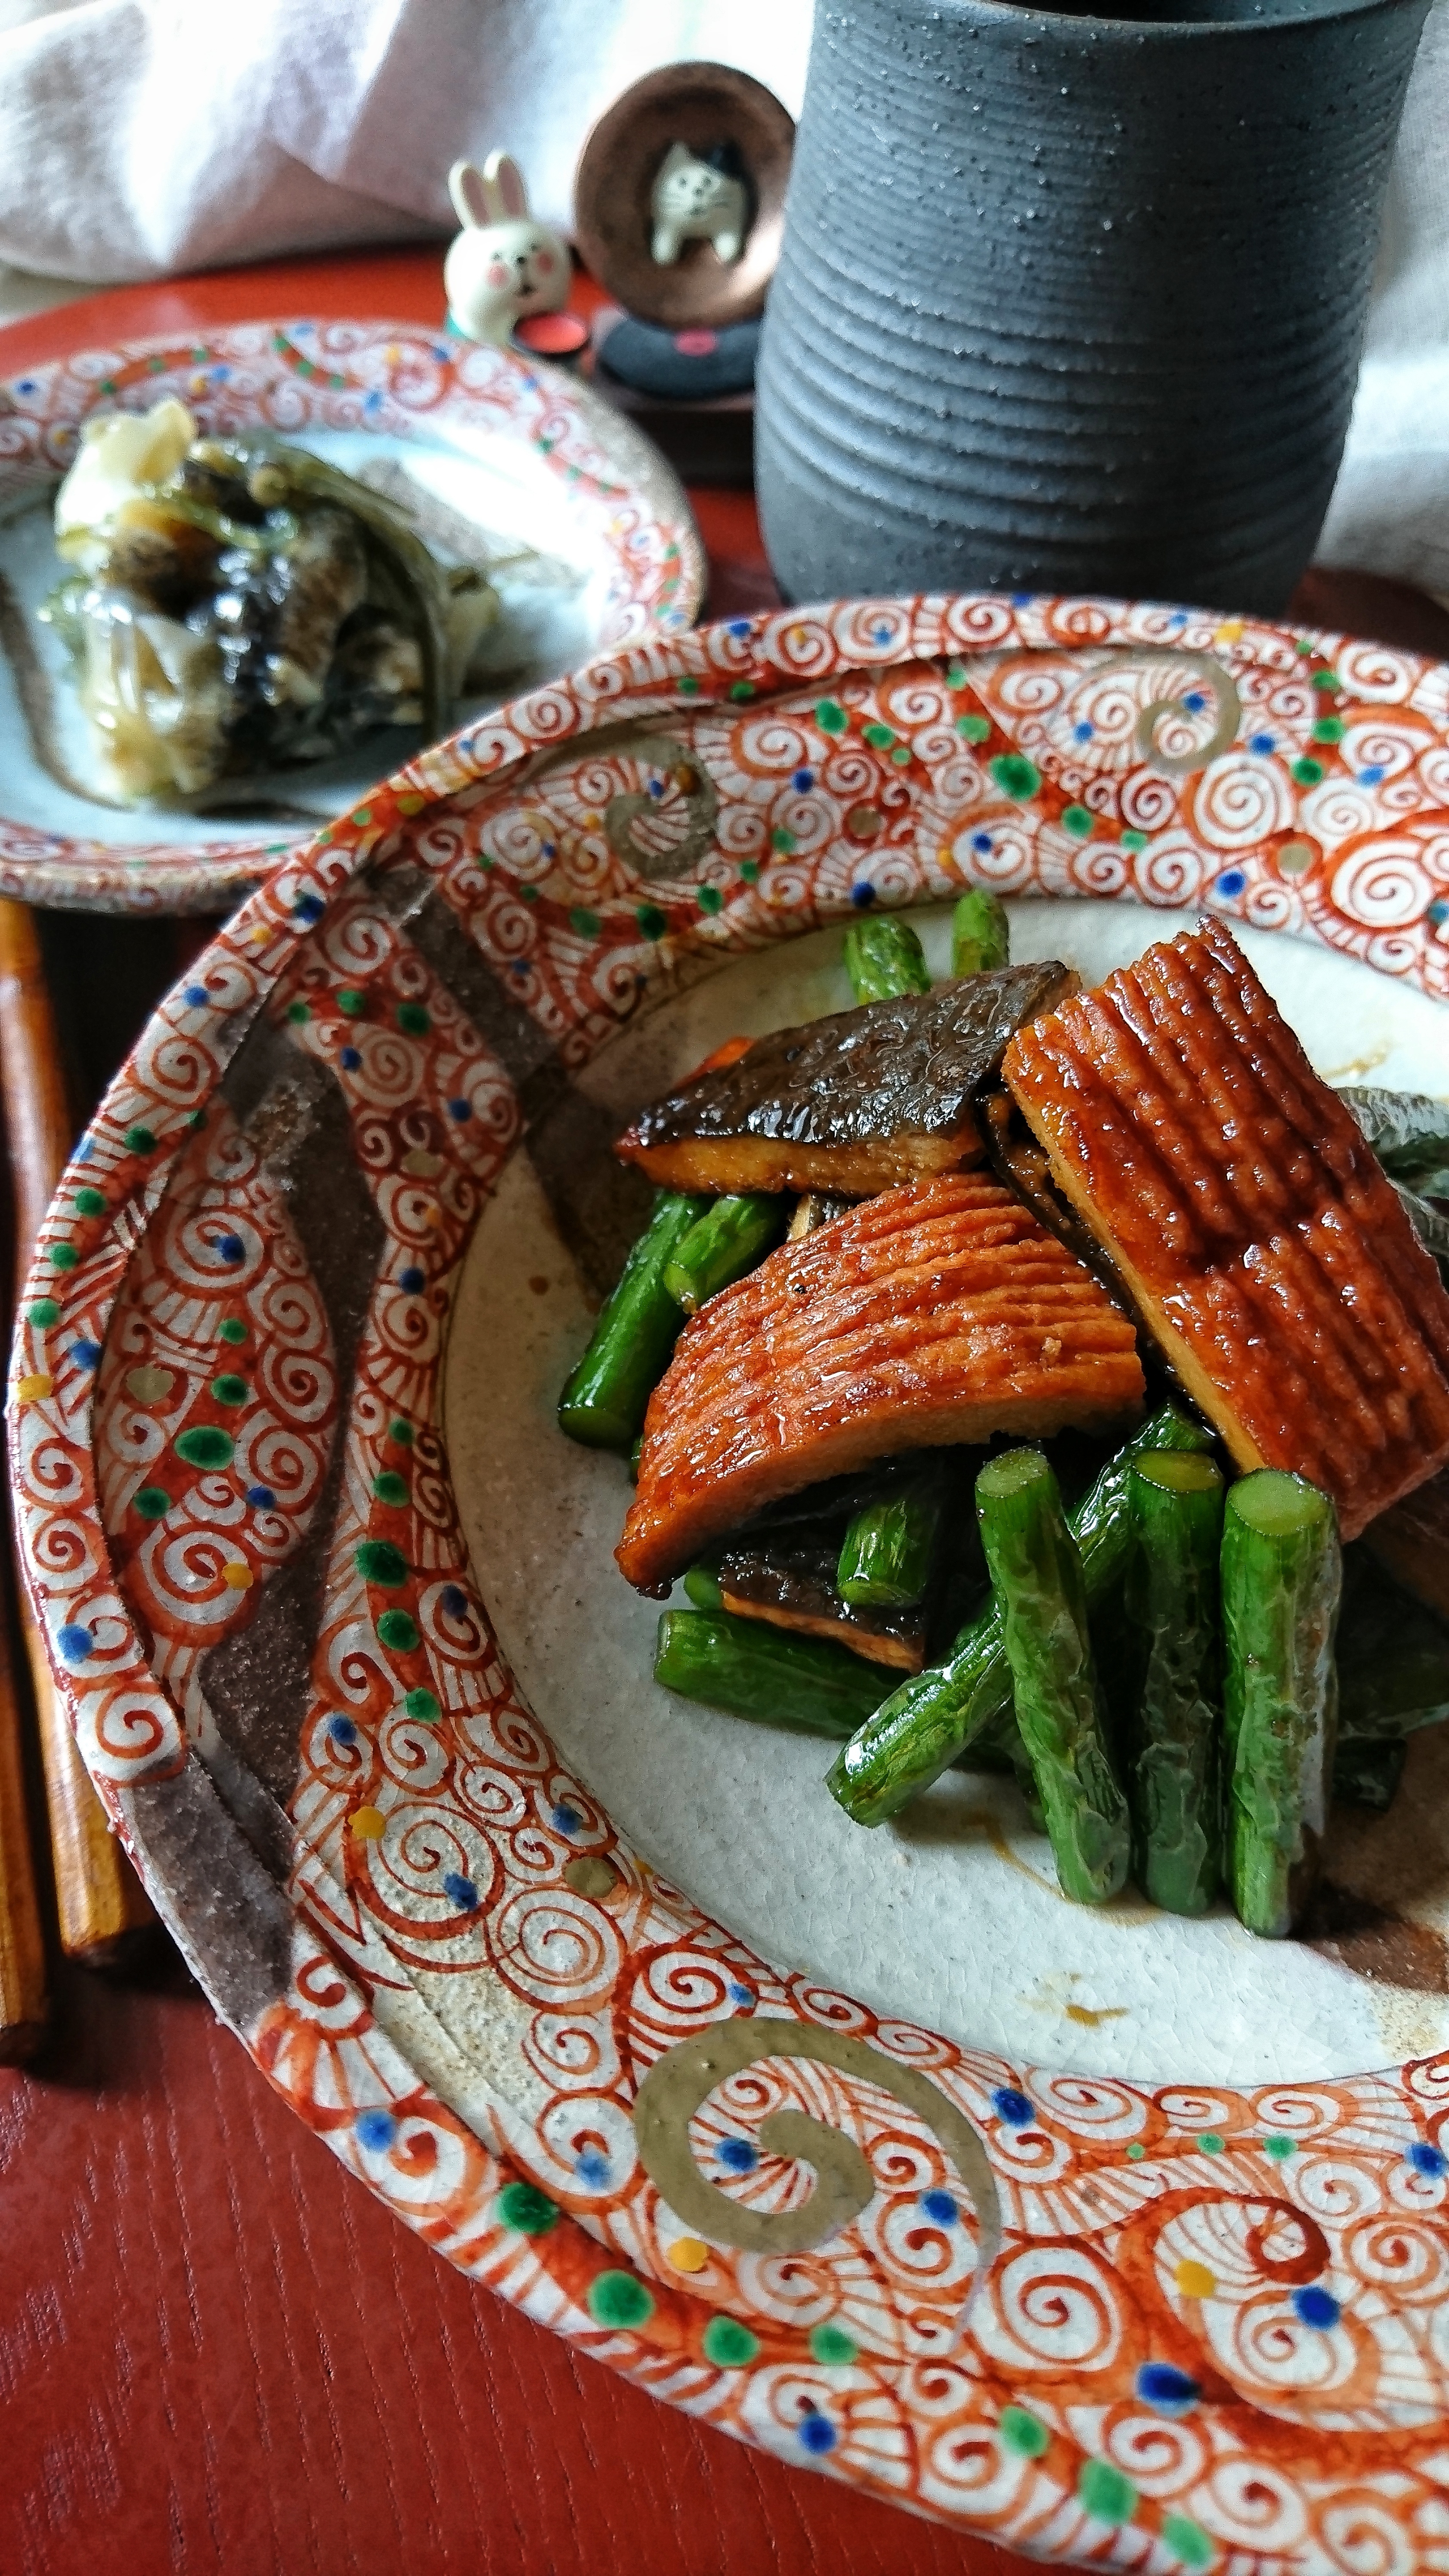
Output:
<path fill-rule="evenodd" d="M 1279 1468 L 1243 1476 L 1222 1522 L 1222 1633 L 1232 1904 L 1284 1940 L 1328 1821 L 1338 1522 L 1328 1494 Z"/>

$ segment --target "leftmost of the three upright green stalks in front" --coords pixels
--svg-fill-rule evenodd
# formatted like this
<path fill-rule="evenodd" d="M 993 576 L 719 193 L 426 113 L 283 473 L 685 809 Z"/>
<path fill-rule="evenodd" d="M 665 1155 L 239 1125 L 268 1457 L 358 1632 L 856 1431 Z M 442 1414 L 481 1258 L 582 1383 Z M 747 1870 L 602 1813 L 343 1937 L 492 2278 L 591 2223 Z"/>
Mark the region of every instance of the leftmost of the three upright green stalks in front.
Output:
<path fill-rule="evenodd" d="M 1098 1906 L 1127 1880 L 1127 1798 L 1106 1749 L 1083 1561 L 1042 1450 L 982 1466 L 977 1520 L 1057 1878 Z"/>

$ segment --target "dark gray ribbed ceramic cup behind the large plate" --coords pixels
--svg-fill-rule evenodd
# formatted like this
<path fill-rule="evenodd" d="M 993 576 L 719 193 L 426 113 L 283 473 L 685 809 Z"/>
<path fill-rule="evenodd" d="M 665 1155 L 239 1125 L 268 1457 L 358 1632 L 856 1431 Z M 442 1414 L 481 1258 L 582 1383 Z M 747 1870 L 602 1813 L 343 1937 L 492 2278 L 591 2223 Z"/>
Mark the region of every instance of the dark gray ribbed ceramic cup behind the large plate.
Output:
<path fill-rule="evenodd" d="M 820 0 L 758 374 L 784 595 L 1281 611 L 1423 18 Z"/>

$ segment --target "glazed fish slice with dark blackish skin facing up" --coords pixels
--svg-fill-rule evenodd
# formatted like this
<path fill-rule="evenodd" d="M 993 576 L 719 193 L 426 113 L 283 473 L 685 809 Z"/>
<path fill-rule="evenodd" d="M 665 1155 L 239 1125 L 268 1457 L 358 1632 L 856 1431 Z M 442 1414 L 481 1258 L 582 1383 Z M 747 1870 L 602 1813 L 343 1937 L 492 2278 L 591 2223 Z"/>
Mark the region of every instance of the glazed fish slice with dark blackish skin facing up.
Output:
<path fill-rule="evenodd" d="M 776 1028 L 701 1072 L 619 1139 L 668 1190 L 835 1190 L 869 1198 L 982 1159 L 975 1092 L 1013 1028 L 1075 989 L 1057 961 Z"/>

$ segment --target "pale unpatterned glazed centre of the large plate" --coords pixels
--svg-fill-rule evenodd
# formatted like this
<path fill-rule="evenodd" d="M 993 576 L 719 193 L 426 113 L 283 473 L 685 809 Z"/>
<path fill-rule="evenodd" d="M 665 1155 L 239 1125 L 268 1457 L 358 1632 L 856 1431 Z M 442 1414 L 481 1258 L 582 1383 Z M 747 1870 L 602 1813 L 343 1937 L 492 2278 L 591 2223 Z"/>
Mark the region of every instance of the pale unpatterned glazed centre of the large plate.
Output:
<path fill-rule="evenodd" d="M 1062 956 L 1085 981 L 1191 927 L 1191 914 L 1134 904 L 1008 909 L 1016 958 Z M 946 914 L 918 922 L 933 971 L 949 971 Z M 1323 1074 L 1449 1092 L 1439 1005 L 1328 948 L 1240 938 Z M 724 1038 L 848 1002 L 841 930 L 789 940 L 629 1028 L 585 1090 L 624 1123 Z M 614 1566 L 624 1463 L 575 1448 L 554 1425 L 588 1332 L 590 1303 L 516 1154 L 472 1242 L 449 1345 L 443 1425 L 459 1510 L 523 1698 L 668 1880 L 773 1968 L 804 1968 L 1018 2063 L 1142 2084 L 1263 2084 L 1449 2048 L 1449 1991 L 1434 1991 L 1423 1965 L 1449 1935 L 1449 1728 L 1415 1739 L 1387 1819 L 1336 1826 L 1328 1862 L 1338 1883 L 1423 1927 L 1400 1945 L 1415 1953 L 1415 1984 L 1253 1940 L 1227 1911 L 1181 1922 L 1134 1896 L 1104 1911 L 1070 1906 L 1003 1780 L 949 1772 L 905 1819 L 864 1832 L 822 1788 L 830 1747 L 696 1708 L 650 1680 L 657 1605 Z"/>

